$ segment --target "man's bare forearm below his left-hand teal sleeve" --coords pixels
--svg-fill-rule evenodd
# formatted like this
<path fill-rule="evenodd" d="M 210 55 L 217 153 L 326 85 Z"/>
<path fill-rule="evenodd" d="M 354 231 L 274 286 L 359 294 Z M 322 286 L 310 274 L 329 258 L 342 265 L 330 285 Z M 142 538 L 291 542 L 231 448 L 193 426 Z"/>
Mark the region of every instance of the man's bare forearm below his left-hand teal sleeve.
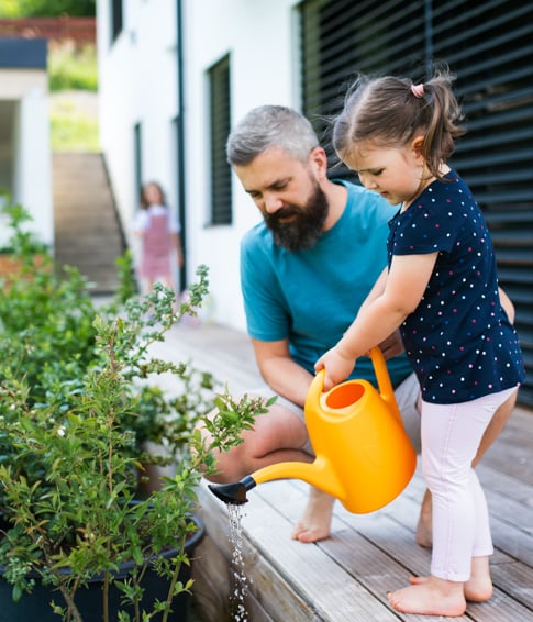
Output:
<path fill-rule="evenodd" d="M 278 395 L 303 406 L 313 376 L 295 363 L 287 340 L 263 342 L 252 340 L 255 358 L 265 382 Z"/>

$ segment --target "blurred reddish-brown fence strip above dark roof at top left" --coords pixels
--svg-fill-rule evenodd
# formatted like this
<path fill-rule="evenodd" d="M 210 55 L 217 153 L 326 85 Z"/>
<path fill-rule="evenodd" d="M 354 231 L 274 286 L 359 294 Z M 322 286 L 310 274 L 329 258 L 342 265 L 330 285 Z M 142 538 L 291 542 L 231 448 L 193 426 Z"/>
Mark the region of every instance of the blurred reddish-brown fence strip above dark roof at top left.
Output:
<path fill-rule="evenodd" d="M 47 38 L 48 41 L 73 41 L 75 45 L 96 43 L 95 18 L 29 18 L 0 20 L 0 37 Z"/>

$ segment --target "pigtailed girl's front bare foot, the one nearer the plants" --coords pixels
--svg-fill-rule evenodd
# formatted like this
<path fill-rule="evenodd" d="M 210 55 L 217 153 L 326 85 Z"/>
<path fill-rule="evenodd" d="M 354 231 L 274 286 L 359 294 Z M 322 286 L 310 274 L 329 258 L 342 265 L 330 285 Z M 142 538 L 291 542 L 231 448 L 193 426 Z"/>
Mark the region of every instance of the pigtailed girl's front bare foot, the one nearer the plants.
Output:
<path fill-rule="evenodd" d="M 401 590 L 389 592 L 390 606 L 402 613 L 421 615 L 458 617 L 466 611 L 463 584 L 437 577 L 419 577 L 421 580 Z"/>

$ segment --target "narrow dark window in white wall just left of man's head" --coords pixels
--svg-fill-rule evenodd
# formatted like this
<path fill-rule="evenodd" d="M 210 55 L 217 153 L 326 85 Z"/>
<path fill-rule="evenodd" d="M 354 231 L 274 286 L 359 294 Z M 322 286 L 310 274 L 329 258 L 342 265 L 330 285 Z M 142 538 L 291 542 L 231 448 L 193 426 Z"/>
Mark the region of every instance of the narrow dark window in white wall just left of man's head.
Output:
<path fill-rule="evenodd" d="M 211 140 L 211 224 L 232 223 L 231 167 L 225 157 L 230 134 L 230 56 L 209 69 Z"/>

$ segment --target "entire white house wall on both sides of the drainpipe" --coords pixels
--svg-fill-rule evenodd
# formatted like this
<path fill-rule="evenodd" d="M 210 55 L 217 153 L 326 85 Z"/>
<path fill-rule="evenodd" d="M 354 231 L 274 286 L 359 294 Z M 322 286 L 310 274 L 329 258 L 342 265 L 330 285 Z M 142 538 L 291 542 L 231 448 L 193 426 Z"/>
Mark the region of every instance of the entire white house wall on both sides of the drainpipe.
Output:
<path fill-rule="evenodd" d="M 124 2 L 124 29 L 110 46 L 110 2 L 98 0 L 101 144 L 124 224 L 135 210 L 133 126 L 143 125 L 143 177 L 158 179 L 175 204 L 177 0 Z M 297 0 L 184 0 L 184 90 L 189 280 L 210 269 L 209 319 L 245 330 L 238 277 L 242 235 L 259 213 L 234 178 L 233 224 L 208 226 L 208 71 L 231 54 L 232 123 L 264 103 L 298 105 Z M 127 232 L 131 241 L 131 233 Z"/>

